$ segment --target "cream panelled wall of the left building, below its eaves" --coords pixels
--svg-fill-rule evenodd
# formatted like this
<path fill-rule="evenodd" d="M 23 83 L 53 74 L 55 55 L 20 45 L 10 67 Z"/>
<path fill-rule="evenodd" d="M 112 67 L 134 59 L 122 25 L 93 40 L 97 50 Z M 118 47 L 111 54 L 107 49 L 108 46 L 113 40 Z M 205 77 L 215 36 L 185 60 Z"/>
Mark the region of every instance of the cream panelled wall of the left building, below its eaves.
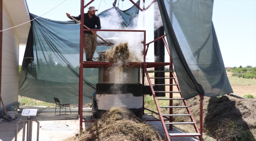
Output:
<path fill-rule="evenodd" d="M 13 22 L 3 2 L 3 29 L 13 27 Z M 19 37 L 15 30 L 3 31 L 2 88 L 4 105 L 18 101 Z"/>

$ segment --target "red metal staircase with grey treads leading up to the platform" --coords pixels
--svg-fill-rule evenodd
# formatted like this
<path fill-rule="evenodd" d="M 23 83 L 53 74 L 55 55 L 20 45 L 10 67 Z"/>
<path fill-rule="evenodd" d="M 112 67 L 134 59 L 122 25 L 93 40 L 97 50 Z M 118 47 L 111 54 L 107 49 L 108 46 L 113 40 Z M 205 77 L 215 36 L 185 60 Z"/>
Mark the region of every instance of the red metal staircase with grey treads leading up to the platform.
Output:
<path fill-rule="evenodd" d="M 146 68 L 144 68 L 144 72 L 145 72 L 145 75 L 147 76 L 148 84 L 150 86 L 152 96 L 154 98 L 154 101 L 156 103 L 156 107 L 158 110 L 158 113 L 156 113 L 156 112 L 155 113 L 158 114 L 160 117 L 160 121 L 161 121 L 161 124 L 163 125 L 163 129 L 165 132 L 166 140 L 171 141 L 170 137 L 198 137 L 200 139 L 200 141 L 203 141 L 202 128 L 200 128 L 200 130 L 199 130 L 199 128 L 195 122 L 195 119 L 191 113 L 191 110 L 189 109 L 189 106 L 188 106 L 186 100 L 184 100 L 184 98 L 182 96 L 178 81 L 177 81 L 173 71 L 154 71 L 154 72 L 170 72 L 170 77 L 168 77 L 168 78 L 167 77 L 165 77 L 165 78 L 150 78 Z M 150 79 L 170 79 L 170 84 L 152 84 Z M 173 80 L 174 80 L 175 84 L 173 84 Z M 158 85 L 170 86 L 170 91 L 154 91 L 153 85 L 155 85 L 155 86 L 158 86 Z M 173 89 L 172 89 L 173 86 L 176 86 L 178 91 L 173 91 Z M 161 93 L 161 92 L 170 93 L 170 96 L 169 96 L 169 98 L 157 98 L 156 94 L 155 94 L 156 92 L 157 93 Z M 173 93 L 179 93 L 181 98 L 173 98 Z M 159 100 L 168 100 L 169 106 L 160 106 L 158 104 Z M 173 100 L 182 100 L 184 103 L 184 106 L 173 106 Z M 200 96 L 200 127 L 202 127 L 202 100 L 203 100 L 203 97 Z M 170 109 L 169 114 L 162 114 L 161 108 L 169 108 Z M 186 108 L 188 114 L 173 114 L 173 108 Z M 147 109 L 147 108 L 145 108 L 145 109 Z M 191 121 L 173 122 L 174 116 L 188 116 L 188 117 L 190 117 Z M 166 119 L 169 119 L 169 122 L 165 122 Z M 169 125 L 169 127 L 170 127 L 169 130 L 173 129 L 173 125 L 193 125 L 196 133 L 171 133 L 171 134 L 169 134 L 168 130 L 166 128 L 166 125 Z"/>

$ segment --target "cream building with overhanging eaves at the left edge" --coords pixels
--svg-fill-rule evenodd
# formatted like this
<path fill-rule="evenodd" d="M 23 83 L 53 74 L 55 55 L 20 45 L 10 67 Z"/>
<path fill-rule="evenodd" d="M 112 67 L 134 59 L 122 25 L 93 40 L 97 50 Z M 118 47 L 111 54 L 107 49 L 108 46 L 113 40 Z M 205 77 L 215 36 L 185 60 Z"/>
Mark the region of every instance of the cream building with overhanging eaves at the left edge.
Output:
<path fill-rule="evenodd" d="M 0 32 L 0 94 L 7 111 L 10 106 L 15 106 L 17 110 L 19 107 L 19 45 L 27 43 L 31 26 L 28 22 L 30 16 L 26 0 L 0 0 L 0 8 L 0 31 L 8 29 Z M 28 23 L 23 24 L 25 22 Z M 11 28 L 16 25 L 20 26 Z M 4 116 L 2 104 L 0 104 L 1 116 Z"/>

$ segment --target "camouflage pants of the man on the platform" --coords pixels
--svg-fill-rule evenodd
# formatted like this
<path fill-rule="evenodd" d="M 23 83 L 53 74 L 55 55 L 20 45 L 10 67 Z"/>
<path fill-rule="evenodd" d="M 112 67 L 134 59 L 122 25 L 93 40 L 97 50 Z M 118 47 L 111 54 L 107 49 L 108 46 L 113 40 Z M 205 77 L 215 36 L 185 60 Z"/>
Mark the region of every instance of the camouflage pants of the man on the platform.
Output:
<path fill-rule="evenodd" d="M 85 58 L 93 59 L 95 49 L 97 47 L 97 36 L 95 34 L 83 34 L 83 48 L 85 51 Z"/>

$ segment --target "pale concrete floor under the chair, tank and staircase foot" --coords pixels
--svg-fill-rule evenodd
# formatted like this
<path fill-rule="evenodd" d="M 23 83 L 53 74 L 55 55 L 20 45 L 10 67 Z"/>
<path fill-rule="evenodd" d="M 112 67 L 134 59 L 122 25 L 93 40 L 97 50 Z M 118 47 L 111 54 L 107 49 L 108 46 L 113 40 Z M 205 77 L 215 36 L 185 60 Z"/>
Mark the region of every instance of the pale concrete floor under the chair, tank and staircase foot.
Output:
<path fill-rule="evenodd" d="M 59 115 L 58 109 L 56 110 L 56 114 L 54 114 L 55 109 L 46 109 L 45 107 L 24 107 L 20 106 L 20 112 L 18 113 L 18 118 L 16 118 L 13 121 L 9 121 L 8 119 L 3 120 L 0 123 L 0 141 L 15 141 L 15 127 L 16 123 L 20 119 L 27 119 L 26 116 L 21 116 L 22 109 L 32 109 L 37 108 L 37 116 L 33 116 L 32 119 L 36 119 L 39 121 L 39 141 L 62 141 L 64 139 L 67 139 L 68 137 L 74 137 L 75 134 L 79 133 L 79 120 L 78 120 L 78 108 L 71 108 L 70 110 L 61 109 L 61 114 Z M 83 108 L 83 117 L 85 117 L 85 120 L 91 120 L 91 108 Z M 143 118 L 154 118 L 152 116 L 145 115 Z M 163 127 L 161 125 L 160 121 L 146 121 L 146 123 L 152 125 L 155 130 L 158 130 L 158 132 L 161 134 L 161 136 L 165 136 L 163 132 Z M 89 127 L 92 123 L 83 123 L 83 128 Z M 56 128 L 62 128 L 60 129 L 54 129 L 46 130 L 44 128 L 41 128 L 41 126 L 48 126 L 48 125 L 54 125 L 57 126 Z M 61 126 L 61 125 L 64 125 Z M 68 128 L 65 128 L 65 125 L 67 125 Z M 27 127 L 25 127 L 27 128 Z M 167 129 L 168 129 L 167 125 Z M 36 141 L 37 139 L 37 123 L 34 121 L 32 124 L 32 141 Z M 68 130 L 65 130 L 68 129 Z M 181 133 L 182 131 L 179 131 L 177 129 L 174 129 L 173 131 L 168 131 L 169 133 Z M 18 134 L 17 134 L 17 141 L 22 141 L 22 134 L 23 134 L 23 122 L 21 121 L 18 124 Z M 25 140 L 26 140 L 27 131 L 25 130 Z M 199 141 L 196 137 L 172 137 L 171 141 Z"/>

